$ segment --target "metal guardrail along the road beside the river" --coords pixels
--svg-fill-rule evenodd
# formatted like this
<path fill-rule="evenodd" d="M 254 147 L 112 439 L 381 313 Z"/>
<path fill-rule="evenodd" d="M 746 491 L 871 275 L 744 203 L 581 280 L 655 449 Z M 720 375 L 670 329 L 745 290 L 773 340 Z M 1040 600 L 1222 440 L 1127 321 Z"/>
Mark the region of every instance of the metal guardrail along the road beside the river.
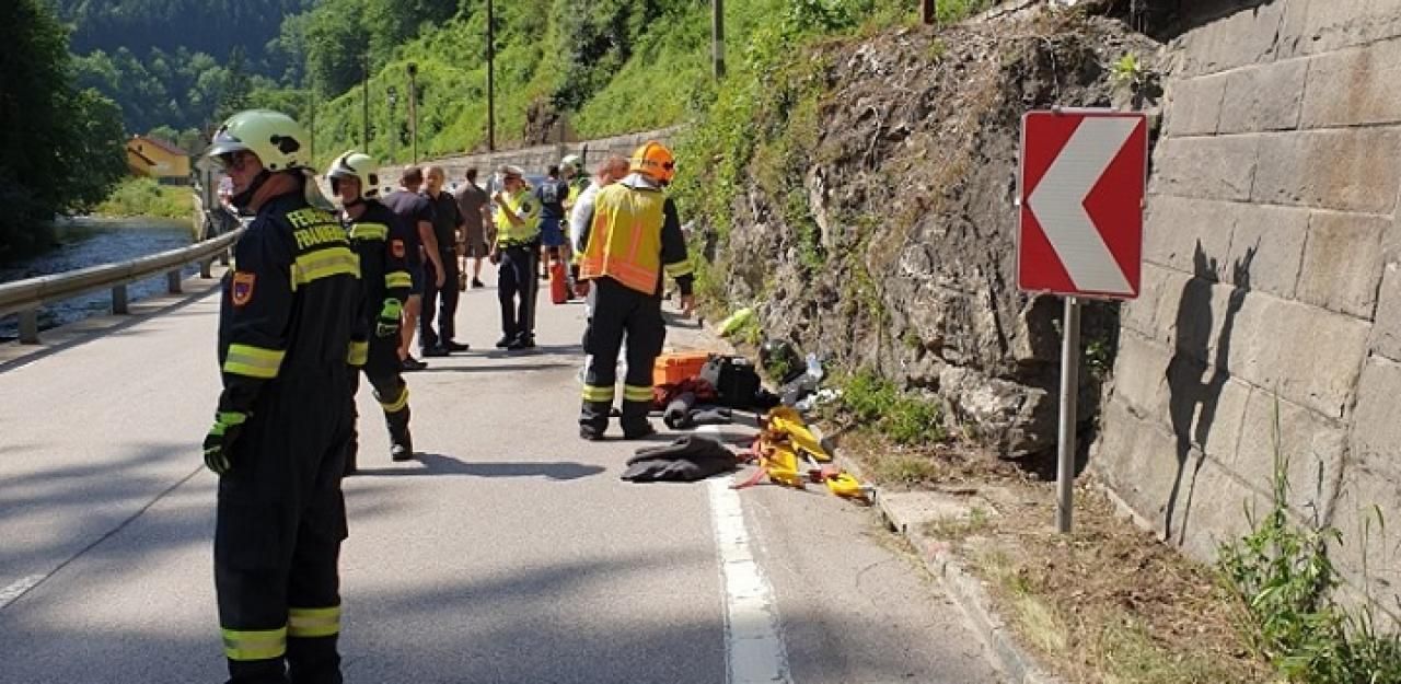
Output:
<path fill-rule="evenodd" d="M 165 273 L 167 290 L 171 294 L 178 294 L 184 279 L 181 269 L 186 264 L 199 262 L 200 278 L 212 278 L 210 268 L 214 259 L 227 266 L 230 247 L 242 233 L 244 228 L 238 228 L 213 240 L 139 259 L 0 285 L 0 315 L 20 314 L 20 342 L 36 345 L 39 343 L 39 307 L 43 304 L 111 287 L 112 313 L 130 313 L 130 303 L 126 297 L 129 283 Z"/>

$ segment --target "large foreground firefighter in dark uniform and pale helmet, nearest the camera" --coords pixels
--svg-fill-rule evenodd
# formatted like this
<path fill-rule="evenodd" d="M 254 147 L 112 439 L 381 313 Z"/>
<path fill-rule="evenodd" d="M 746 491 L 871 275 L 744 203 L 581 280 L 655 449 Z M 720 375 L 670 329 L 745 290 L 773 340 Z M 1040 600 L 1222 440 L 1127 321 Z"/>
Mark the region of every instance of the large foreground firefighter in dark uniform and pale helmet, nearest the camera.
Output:
<path fill-rule="evenodd" d="M 207 154 L 254 220 L 223 286 L 224 390 L 205 437 L 219 474 L 214 587 L 230 684 L 339 684 L 340 474 L 353 416 L 346 360 L 360 266 L 308 178 L 289 116 L 235 114 Z M 328 205 L 329 206 L 329 205 Z"/>

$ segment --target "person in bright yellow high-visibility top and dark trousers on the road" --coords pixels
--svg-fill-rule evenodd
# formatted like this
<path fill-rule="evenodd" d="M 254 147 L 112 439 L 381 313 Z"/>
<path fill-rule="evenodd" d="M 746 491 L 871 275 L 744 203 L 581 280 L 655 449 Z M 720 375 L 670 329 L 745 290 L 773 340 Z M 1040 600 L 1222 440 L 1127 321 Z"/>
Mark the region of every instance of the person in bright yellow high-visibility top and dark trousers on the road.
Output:
<path fill-rule="evenodd" d="M 539 240 L 539 202 L 525 186 L 525 171 L 504 165 L 503 188 L 492 195 L 496 203 L 496 242 L 492 264 L 499 264 L 496 297 L 502 303 L 502 339 L 497 349 L 531 349 L 535 303 L 535 254 Z"/>

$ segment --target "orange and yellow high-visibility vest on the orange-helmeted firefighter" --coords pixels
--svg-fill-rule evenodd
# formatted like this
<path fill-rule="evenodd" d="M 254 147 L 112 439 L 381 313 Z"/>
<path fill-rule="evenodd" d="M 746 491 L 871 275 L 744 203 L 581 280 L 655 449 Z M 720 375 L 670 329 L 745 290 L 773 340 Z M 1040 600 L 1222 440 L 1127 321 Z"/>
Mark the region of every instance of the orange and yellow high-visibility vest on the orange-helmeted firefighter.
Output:
<path fill-rule="evenodd" d="M 661 283 L 661 224 L 667 196 L 661 191 L 614 184 L 594 198 L 594 221 L 579 264 L 581 280 L 608 276 L 656 294 Z"/>

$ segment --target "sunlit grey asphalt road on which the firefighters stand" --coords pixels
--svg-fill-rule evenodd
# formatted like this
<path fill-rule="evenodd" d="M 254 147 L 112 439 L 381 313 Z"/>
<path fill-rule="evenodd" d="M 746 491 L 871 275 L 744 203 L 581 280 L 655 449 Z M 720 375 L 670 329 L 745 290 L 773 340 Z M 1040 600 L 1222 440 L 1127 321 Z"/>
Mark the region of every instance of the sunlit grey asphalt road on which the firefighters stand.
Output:
<path fill-rule="evenodd" d="M 0 353 L 0 683 L 223 681 L 198 449 L 217 297 L 151 307 Z M 472 350 L 408 376 L 417 461 L 388 460 L 361 390 L 346 681 L 1000 680 L 871 510 L 618 479 L 637 444 L 577 437 L 583 307 L 545 303 L 541 348 L 514 355 L 490 348 L 496 311 L 468 292 Z"/>

